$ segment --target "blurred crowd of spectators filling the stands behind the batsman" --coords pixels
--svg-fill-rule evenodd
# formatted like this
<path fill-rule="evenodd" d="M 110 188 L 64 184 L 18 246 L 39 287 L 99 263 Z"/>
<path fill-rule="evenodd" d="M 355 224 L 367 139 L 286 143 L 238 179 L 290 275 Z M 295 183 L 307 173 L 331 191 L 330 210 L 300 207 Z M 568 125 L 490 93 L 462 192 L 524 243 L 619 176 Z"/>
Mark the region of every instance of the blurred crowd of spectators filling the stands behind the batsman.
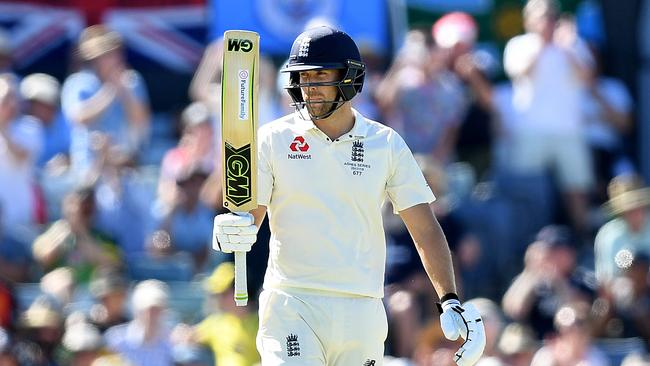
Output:
<path fill-rule="evenodd" d="M 479 365 L 650 365 L 650 188 L 624 143 L 632 97 L 601 73 L 599 37 L 555 1 L 522 16 L 503 57 L 460 12 L 410 31 L 391 60 L 362 47 L 353 105 L 404 137 L 436 194 L 461 298 L 485 321 Z M 257 363 L 255 303 L 234 306 L 232 258 L 210 247 L 224 210 L 220 42 L 170 116 L 102 25 L 83 31 L 62 81 L 16 74 L 3 37 L 0 366 Z M 278 66 L 263 57 L 260 123 L 292 112 Z M 384 224 L 385 364 L 451 365 L 457 345 L 410 236 L 390 207 Z M 253 294 L 268 235 L 249 254 Z"/>

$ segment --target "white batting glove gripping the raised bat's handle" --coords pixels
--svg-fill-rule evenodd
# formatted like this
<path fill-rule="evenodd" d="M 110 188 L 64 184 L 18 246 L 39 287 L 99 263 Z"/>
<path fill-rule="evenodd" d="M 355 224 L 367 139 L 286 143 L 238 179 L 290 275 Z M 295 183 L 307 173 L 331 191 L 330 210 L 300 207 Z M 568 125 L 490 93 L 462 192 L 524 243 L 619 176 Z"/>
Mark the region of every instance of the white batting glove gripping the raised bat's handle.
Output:
<path fill-rule="evenodd" d="M 257 241 L 257 226 L 249 213 L 225 213 L 214 218 L 212 249 L 224 253 L 248 252 Z"/>

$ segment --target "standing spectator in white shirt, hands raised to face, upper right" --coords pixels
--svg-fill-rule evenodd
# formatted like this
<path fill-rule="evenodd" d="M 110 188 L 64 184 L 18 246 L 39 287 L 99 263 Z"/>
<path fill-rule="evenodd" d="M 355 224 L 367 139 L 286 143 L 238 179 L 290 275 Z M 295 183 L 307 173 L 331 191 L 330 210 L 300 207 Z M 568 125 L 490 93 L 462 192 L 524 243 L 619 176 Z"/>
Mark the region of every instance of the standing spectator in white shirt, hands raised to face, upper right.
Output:
<path fill-rule="evenodd" d="M 573 22 L 559 19 L 559 11 L 556 0 L 529 0 L 523 12 L 526 34 L 512 38 L 504 50 L 517 115 L 509 164 L 521 174 L 551 169 L 571 224 L 586 238 L 593 172 L 581 102 L 593 60 Z"/>

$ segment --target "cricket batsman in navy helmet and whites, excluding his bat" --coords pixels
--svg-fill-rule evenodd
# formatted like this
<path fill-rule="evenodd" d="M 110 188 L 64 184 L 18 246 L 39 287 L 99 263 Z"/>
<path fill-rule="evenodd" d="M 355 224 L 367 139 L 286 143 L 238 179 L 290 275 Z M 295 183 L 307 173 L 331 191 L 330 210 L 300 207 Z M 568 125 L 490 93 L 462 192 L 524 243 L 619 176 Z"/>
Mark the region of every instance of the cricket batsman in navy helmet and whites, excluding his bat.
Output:
<path fill-rule="evenodd" d="M 456 295 L 451 255 L 411 151 L 391 128 L 351 106 L 365 65 L 354 41 L 327 26 L 300 34 L 281 72 L 296 112 L 258 131 L 258 204 L 215 217 L 213 247 L 248 251 L 268 211 L 269 262 L 257 348 L 268 365 L 381 365 L 388 198 L 441 298 L 440 323 L 464 339 L 458 365 L 485 347 L 481 317 Z"/>

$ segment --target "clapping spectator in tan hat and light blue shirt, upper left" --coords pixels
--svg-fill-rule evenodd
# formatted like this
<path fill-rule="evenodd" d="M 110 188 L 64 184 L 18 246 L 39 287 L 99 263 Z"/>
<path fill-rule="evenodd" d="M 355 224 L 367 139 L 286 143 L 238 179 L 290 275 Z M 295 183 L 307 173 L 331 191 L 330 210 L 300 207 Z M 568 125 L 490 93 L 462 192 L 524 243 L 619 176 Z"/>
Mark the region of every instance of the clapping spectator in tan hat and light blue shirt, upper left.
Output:
<path fill-rule="evenodd" d="M 117 32 L 92 25 L 81 33 L 78 51 L 85 67 L 65 80 L 61 104 L 72 123 L 72 166 L 84 173 L 94 161 L 93 132 L 134 156 L 146 140 L 150 110 L 144 81 L 127 65 Z"/>

